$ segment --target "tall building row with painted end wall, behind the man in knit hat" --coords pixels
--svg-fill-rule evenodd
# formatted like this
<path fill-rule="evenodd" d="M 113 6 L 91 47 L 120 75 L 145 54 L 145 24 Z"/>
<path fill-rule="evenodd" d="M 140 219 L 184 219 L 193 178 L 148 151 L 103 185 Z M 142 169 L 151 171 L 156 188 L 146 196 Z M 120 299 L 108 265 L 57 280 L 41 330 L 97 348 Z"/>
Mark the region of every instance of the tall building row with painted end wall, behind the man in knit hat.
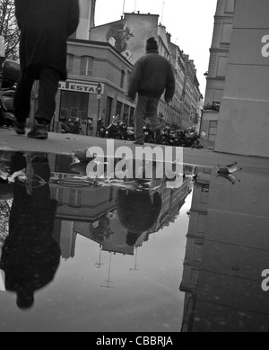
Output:
<path fill-rule="evenodd" d="M 171 42 L 171 36 L 166 31 L 166 27 L 158 24 L 158 21 L 159 15 L 157 14 L 124 13 L 124 16 L 117 22 L 91 28 L 90 38 L 109 42 L 134 65 L 136 60 L 145 54 L 146 39 L 155 37 L 158 40 L 160 55 L 169 60 L 176 78 L 176 93 L 172 103 L 165 103 L 162 96 L 159 117 L 163 123 L 187 128 L 192 126 L 193 119 L 199 119 L 194 118 L 194 115 L 196 116 L 197 113 L 201 115 L 202 95 L 196 77 L 195 64 L 183 54 L 176 44 Z M 185 94 L 187 87 L 190 92 Z M 184 105 L 186 105 L 185 108 Z M 183 116 L 185 116 L 185 122 L 182 122 Z"/>

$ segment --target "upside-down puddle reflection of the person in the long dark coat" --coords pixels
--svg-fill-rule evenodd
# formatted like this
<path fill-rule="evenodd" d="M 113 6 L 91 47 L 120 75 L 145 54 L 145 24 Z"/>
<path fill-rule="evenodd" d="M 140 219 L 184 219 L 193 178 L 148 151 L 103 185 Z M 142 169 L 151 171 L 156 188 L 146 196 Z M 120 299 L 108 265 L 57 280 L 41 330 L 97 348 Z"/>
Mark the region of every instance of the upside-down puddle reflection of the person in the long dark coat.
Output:
<path fill-rule="evenodd" d="M 22 153 L 11 159 L 11 174 L 26 168 Z M 32 173 L 29 186 L 15 181 L 10 212 L 9 236 L 4 242 L 0 267 L 5 273 L 5 289 L 17 294 L 17 306 L 28 310 L 34 304 L 34 292 L 50 283 L 60 261 L 53 223 L 56 201 L 50 199 L 47 157 L 36 156 L 30 162 Z M 44 183 L 38 185 L 35 175 Z"/>

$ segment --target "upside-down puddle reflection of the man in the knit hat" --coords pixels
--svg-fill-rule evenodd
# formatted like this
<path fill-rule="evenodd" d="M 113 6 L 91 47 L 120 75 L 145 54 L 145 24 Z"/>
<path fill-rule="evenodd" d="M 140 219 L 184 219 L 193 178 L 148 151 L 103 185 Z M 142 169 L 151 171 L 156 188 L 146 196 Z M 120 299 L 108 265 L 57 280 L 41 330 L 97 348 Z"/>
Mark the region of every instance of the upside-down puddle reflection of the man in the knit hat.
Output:
<path fill-rule="evenodd" d="M 128 230 L 126 243 L 134 246 L 143 232 L 151 229 L 161 212 L 161 195 L 158 192 L 119 190 L 117 214 Z"/>

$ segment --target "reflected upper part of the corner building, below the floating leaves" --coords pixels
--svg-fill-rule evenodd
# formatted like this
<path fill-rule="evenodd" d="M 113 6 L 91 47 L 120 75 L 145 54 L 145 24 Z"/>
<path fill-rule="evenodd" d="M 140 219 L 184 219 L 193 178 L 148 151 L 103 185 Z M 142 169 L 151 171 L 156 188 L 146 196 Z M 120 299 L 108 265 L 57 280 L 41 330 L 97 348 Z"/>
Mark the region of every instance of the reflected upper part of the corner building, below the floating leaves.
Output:
<path fill-rule="evenodd" d="M 61 239 L 64 257 L 74 256 L 75 232 L 99 242 L 99 225 L 108 235 L 109 213 L 116 209 L 117 190 L 113 187 L 73 188 L 50 184 L 56 211 L 55 238 Z"/>

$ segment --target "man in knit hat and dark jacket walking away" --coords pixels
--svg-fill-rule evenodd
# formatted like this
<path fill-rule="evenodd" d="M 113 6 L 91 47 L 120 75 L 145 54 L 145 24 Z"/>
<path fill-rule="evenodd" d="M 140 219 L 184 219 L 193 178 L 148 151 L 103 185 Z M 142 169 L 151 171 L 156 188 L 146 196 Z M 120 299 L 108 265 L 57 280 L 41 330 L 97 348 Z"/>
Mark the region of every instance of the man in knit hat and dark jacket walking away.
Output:
<path fill-rule="evenodd" d="M 158 118 L 158 105 L 165 92 L 165 101 L 169 103 L 175 94 L 175 76 L 169 61 L 159 55 L 158 43 L 154 38 L 146 42 L 146 55 L 134 65 L 128 86 L 128 96 L 138 101 L 134 114 L 135 144 L 143 145 L 143 121 L 148 118 L 152 129 L 160 134 L 162 125 Z"/>

